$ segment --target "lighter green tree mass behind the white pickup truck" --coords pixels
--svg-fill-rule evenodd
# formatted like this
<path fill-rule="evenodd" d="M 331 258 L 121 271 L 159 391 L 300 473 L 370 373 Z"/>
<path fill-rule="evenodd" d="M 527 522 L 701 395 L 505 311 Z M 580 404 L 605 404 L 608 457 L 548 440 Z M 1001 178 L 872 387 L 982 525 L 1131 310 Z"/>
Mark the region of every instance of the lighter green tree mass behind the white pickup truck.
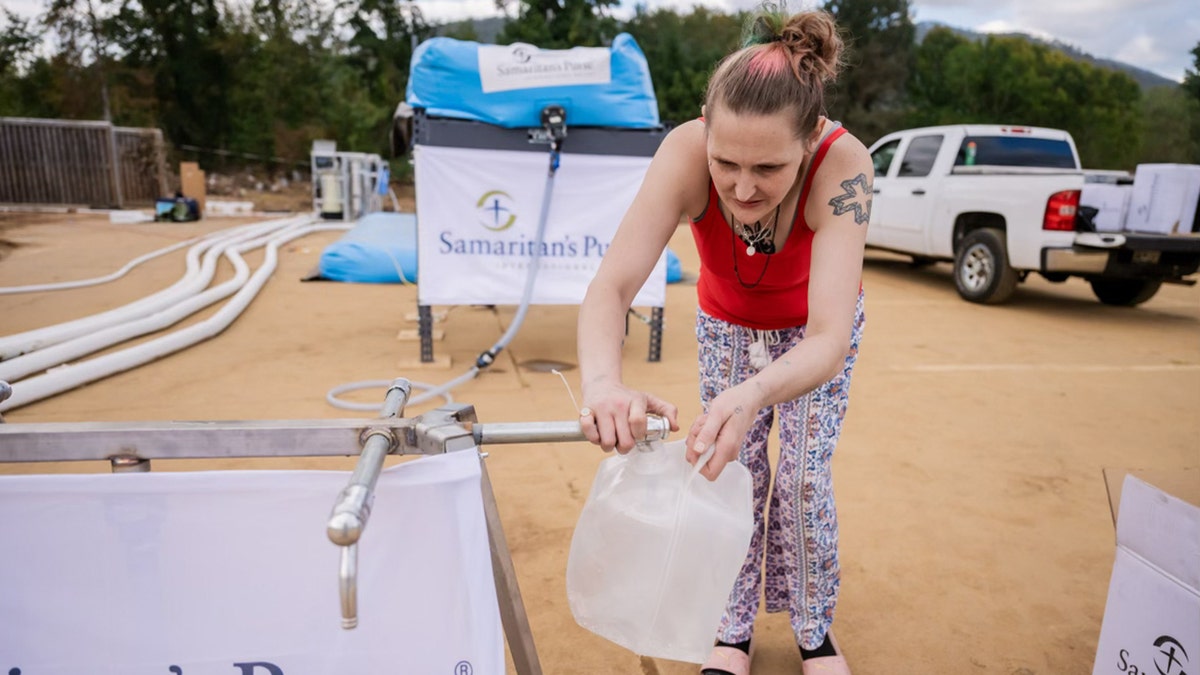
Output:
<path fill-rule="evenodd" d="M 973 42 L 934 29 L 917 49 L 907 125 L 1066 129 L 1090 168 L 1138 161 L 1140 90 L 1129 76 L 1018 37 Z"/>

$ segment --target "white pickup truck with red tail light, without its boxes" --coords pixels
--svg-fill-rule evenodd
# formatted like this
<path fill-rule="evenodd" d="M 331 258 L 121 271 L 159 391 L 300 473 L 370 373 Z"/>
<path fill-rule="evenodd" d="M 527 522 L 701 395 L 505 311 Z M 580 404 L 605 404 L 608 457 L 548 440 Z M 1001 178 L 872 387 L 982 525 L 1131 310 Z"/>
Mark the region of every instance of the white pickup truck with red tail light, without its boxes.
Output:
<path fill-rule="evenodd" d="M 1002 303 L 1031 271 L 1086 279 L 1110 305 L 1148 300 L 1200 269 L 1200 234 L 1094 232 L 1078 217 L 1084 172 L 1066 131 L 954 125 L 898 131 L 871 145 L 866 244 L 954 263 L 959 294 Z M 1190 223 L 1188 223 L 1190 229 Z"/>

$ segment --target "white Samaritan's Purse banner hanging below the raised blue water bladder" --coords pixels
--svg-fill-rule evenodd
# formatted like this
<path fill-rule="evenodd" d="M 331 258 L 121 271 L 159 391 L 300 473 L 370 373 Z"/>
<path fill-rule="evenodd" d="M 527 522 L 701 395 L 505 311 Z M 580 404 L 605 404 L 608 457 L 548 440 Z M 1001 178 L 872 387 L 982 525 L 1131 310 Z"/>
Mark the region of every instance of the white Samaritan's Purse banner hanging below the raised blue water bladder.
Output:
<path fill-rule="evenodd" d="M 420 304 L 520 304 L 538 238 L 548 150 L 416 145 L 414 155 Z M 533 304 L 574 305 L 583 299 L 649 162 L 563 154 Z M 634 305 L 662 306 L 665 300 L 666 253 Z"/>

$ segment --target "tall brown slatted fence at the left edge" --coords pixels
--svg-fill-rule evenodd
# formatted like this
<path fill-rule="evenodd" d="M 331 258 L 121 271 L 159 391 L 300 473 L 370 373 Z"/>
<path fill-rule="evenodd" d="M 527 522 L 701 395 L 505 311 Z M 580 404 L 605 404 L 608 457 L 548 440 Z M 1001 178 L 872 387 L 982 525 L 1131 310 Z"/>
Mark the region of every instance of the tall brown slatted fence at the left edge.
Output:
<path fill-rule="evenodd" d="M 166 193 L 157 129 L 0 118 L 0 203 L 126 208 Z"/>

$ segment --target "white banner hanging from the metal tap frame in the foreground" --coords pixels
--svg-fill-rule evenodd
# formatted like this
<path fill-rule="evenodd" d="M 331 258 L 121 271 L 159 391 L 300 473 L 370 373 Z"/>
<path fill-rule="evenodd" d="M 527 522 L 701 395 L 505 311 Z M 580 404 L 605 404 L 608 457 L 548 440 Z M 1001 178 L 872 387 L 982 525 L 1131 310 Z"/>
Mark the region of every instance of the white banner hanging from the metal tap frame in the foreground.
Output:
<path fill-rule="evenodd" d="M 325 536 L 347 478 L 0 477 L 0 674 L 502 675 L 478 453 L 380 476 L 353 631 Z"/>

